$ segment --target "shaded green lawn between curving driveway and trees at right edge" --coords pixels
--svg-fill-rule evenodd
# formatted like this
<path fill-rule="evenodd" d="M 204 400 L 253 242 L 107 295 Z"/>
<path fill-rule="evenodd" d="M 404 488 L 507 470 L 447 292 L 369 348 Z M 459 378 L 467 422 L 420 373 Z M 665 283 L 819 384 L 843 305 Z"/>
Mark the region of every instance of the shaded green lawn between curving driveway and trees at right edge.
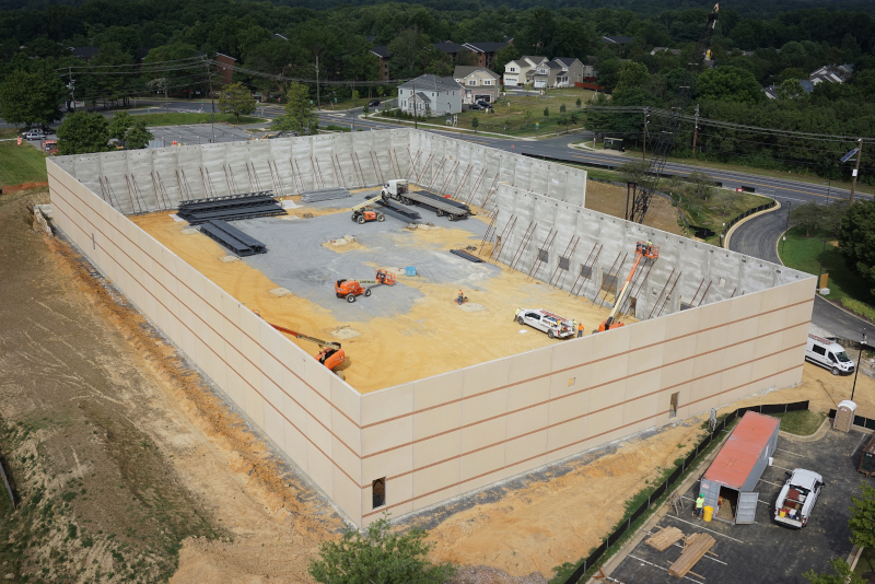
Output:
<path fill-rule="evenodd" d="M 821 240 L 827 240 L 826 247 Z M 833 245 L 836 237 L 826 233 L 813 233 L 810 237 L 805 236 L 805 230 L 793 227 L 786 232 L 786 241 L 780 242 L 778 253 L 788 267 L 814 273 L 820 271 L 820 259 L 824 260 L 824 273 L 829 275 L 827 287 L 829 294 L 827 300 L 851 299 L 868 304 L 873 304 L 868 285 L 862 278 L 848 269 L 841 250 Z"/>

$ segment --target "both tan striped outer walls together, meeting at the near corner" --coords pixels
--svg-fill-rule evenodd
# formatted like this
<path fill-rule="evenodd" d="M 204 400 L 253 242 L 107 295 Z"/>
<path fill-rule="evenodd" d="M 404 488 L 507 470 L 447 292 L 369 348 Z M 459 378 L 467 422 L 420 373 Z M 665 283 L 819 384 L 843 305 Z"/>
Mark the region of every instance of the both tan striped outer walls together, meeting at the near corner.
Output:
<path fill-rule="evenodd" d="M 47 166 L 57 226 L 358 525 L 802 377 L 810 279 L 362 396 Z"/>

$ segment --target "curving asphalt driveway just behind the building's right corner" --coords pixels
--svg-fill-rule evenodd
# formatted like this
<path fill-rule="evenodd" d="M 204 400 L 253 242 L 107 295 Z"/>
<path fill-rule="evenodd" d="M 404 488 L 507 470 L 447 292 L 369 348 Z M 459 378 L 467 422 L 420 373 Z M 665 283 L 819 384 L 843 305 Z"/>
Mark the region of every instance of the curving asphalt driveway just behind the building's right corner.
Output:
<path fill-rule="evenodd" d="M 755 217 L 738 225 L 730 240 L 730 249 L 780 264 L 775 244 L 780 245 L 779 240 L 786 230 L 786 215 L 793 201 L 780 198 L 779 200 L 781 200 L 782 207 L 778 211 Z M 812 290 L 812 294 L 815 294 L 814 290 Z M 815 296 L 812 323 L 833 335 L 851 340 L 859 340 L 866 326 L 872 328 L 872 325 L 865 320 L 844 312 L 819 295 Z"/>

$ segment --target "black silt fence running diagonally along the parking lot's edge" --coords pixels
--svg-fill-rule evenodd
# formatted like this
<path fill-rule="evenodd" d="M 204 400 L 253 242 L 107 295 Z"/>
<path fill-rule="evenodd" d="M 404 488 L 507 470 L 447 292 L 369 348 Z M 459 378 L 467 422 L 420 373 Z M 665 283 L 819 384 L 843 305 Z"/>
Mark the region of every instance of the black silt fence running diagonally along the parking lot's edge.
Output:
<path fill-rule="evenodd" d="M 615 545 L 617 541 L 622 538 L 626 532 L 639 519 L 642 515 L 644 515 L 650 509 L 651 504 L 658 501 L 668 489 L 677 482 L 682 476 L 684 472 L 690 468 L 699 456 L 708 449 L 708 446 L 714 441 L 714 439 L 719 437 L 721 432 L 723 432 L 727 425 L 734 422 L 736 419 L 740 418 L 748 411 L 756 411 L 758 413 L 784 413 L 788 411 L 800 411 L 800 410 L 807 410 L 808 409 L 808 401 L 796 401 L 793 404 L 766 404 L 762 406 L 750 406 L 747 408 L 738 408 L 737 410 L 733 411 L 732 413 L 727 414 L 723 420 L 716 422 L 714 429 L 702 440 L 697 446 L 696 449 L 690 453 L 687 458 L 675 468 L 674 472 L 672 472 L 668 478 L 656 487 L 652 493 L 648 497 L 648 500 L 641 504 L 634 512 L 629 514 L 628 517 L 620 524 L 616 532 L 610 534 L 605 540 L 598 546 L 593 552 L 590 554 L 588 558 L 583 560 L 583 563 L 574 570 L 574 573 L 565 581 L 565 584 L 576 584 L 584 574 L 594 569 L 596 562 L 602 559 L 605 552 L 610 548 L 610 546 Z M 835 413 L 833 413 L 835 414 Z M 856 422 L 854 422 L 856 423 Z M 873 422 L 875 423 L 875 422 Z"/>

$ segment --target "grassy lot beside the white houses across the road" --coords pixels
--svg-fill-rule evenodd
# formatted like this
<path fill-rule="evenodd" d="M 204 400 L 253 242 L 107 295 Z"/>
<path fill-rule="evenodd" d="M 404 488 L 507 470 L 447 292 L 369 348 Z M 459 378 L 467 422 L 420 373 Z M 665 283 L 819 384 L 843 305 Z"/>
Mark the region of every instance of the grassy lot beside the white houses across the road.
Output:
<path fill-rule="evenodd" d="M 482 131 L 504 133 L 508 136 L 539 136 L 565 131 L 565 126 L 559 124 L 559 108 L 565 106 L 565 114 L 570 116 L 578 109 L 576 100 L 586 104 L 593 96 L 587 90 L 553 90 L 546 95 L 516 95 L 509 93 L 495 102 L 494 114 L 469 110 L 458 115 L 459 128 L 472 128 L 471 119 L 479 119 Z M 550 115 L 544 116 L 544 108 L 549 108 Z M 529 117 L 526 117 L 526 113 Z M 569 125 L 569 130 L 583 128 L 583 116 L 580 121 Z M 535 126 L 538 124 L 538 126 Z"/>

